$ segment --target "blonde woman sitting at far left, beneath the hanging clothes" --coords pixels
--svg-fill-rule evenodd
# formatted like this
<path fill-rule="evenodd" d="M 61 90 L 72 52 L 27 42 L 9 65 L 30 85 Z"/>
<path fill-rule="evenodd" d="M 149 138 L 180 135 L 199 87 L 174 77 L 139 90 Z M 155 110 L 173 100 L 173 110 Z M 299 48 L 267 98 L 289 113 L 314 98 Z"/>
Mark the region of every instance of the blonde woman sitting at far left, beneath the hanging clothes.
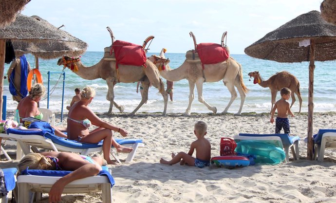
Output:
<path fill-rule="evenodd" d="M 45 87 L 41 84 L 35 84 L 29 91 L 29 95 L 21 99 L 18 104 L 17 110 L 19 110 L 20 122 L 22 123 L 22 118 L 34 117 L 39 120 L 43 118 L 42 112 L 38 111 L 37 103 L 41 100 L 42 96 L 45 94 Z M 24 126 L 28 128 L 30 122 L 25 121 Z M 59 137 L 67 137 L 62 131 L 66 131 L 64 128 L 56 128 L 55 134 Z"/>

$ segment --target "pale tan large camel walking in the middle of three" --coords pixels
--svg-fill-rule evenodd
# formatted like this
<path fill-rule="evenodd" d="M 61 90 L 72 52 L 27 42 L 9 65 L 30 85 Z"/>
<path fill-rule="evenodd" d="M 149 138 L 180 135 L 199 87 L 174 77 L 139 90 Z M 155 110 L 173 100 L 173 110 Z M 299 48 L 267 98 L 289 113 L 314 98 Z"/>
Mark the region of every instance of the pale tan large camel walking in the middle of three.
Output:
<path fill-rule="evenodd" d="M 204 64 L 204 71 L 202 70 L 201 63 L 190 62 L 188 59 L 186 59 L 180 67 L 171 70 L 168 65 L 170 60 L 166 59 L 163 51 L 161 51 L 160 56 L 151 55 L 148 57 L 148 59 L 156 65 L 161 76 L 165 79 L 169 81 L 179 81 L 182 79 L 188 80 L 189 105 L 185 112 L 186 115 L 190 115 L 191 103 L 195 97 L 195 84 L 198 93 L 198 101 L 203 103 L 208 108 L 208 110 L 212 111 L 213 113 L 217 113 L 217 108 L 210 106 L 203 98 L 203 83 L 205 81 L 218 82 L 220 80 L 223 80 L 224 85 L 231 93 L 230 102 L 222 113 L 227 113 L 232 102 L 237 98 L 237 92 L 234 88 L 234 86 L 236 86 L 241 96 L 241 105 L 236 115 L 241 114 L 248 89 L 243 83 L 243 71 L 241 64 L 239 64 L 231 56 L 226 61 L 220 63 Z M 164 70 L 162 68 L 163 66 L 165 66 Z"/>

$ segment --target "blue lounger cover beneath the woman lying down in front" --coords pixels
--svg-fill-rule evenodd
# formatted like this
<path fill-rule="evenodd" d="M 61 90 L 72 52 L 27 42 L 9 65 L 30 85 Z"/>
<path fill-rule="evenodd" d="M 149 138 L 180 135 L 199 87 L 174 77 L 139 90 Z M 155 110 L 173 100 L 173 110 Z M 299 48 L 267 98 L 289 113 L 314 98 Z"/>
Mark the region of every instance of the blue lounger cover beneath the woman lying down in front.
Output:
<path fill-rule="evenodd" d="M 104 175 L 109 178 L 111 187 L 115 184 L 112 175 L 109 173 L 107 166 L 102 166 L 102 170 L 99 171 L 98 176 Z M 52 177 L 63 177 L 68 175 L 73 171 L 67 170 L 38 170 L 38 169 L 24 169 L 21 171 L 20 175 L 35 175 L 35 176 L 52 176 Z M 14 184 L 15 186 L 15 184 Z"/>

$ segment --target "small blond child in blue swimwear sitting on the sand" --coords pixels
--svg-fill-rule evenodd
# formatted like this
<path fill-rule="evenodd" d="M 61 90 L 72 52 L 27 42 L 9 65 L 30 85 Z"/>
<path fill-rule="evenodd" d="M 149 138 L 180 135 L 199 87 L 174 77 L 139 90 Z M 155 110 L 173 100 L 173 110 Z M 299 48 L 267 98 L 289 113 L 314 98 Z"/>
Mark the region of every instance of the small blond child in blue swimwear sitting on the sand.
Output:
<path fill-rule="evenodd" d="M 180 165 L 185 163 L 189 166 L 197 166 L 203 168 L 204 166 L 210 166 L 211 158 L 211 145 L 210 142 L 204 138 L 206 135 L 207 125 L 203 121 L 198 121 L 194 127 L 194 133 L 197 137 L 197 140 L 191 143 L 188 153 L 179 152 L 178 154 L 171 154 L 171 160 L 167 161 L 163 158 L 160 159 L 161 164 L 173 165 L 180 162 Z M 192 157 L 196 149 L 196 158 Z"/>

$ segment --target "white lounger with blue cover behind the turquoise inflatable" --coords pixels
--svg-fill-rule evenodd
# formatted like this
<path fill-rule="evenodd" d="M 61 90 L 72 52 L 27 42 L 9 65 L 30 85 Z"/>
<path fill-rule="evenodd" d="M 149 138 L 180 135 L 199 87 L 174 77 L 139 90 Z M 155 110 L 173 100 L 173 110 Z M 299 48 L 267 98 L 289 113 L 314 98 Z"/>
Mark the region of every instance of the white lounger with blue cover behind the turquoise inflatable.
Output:
<path fill-rule="evenodd" d="M 247 134 L 239 133 L 234 140 L 278 140 L 285 151 L 285 162 L 289 162 L 289 148 L 291 148 L 294 160 L 299 158 L 299 136 L 289 136 L 288 134 Z"/>

